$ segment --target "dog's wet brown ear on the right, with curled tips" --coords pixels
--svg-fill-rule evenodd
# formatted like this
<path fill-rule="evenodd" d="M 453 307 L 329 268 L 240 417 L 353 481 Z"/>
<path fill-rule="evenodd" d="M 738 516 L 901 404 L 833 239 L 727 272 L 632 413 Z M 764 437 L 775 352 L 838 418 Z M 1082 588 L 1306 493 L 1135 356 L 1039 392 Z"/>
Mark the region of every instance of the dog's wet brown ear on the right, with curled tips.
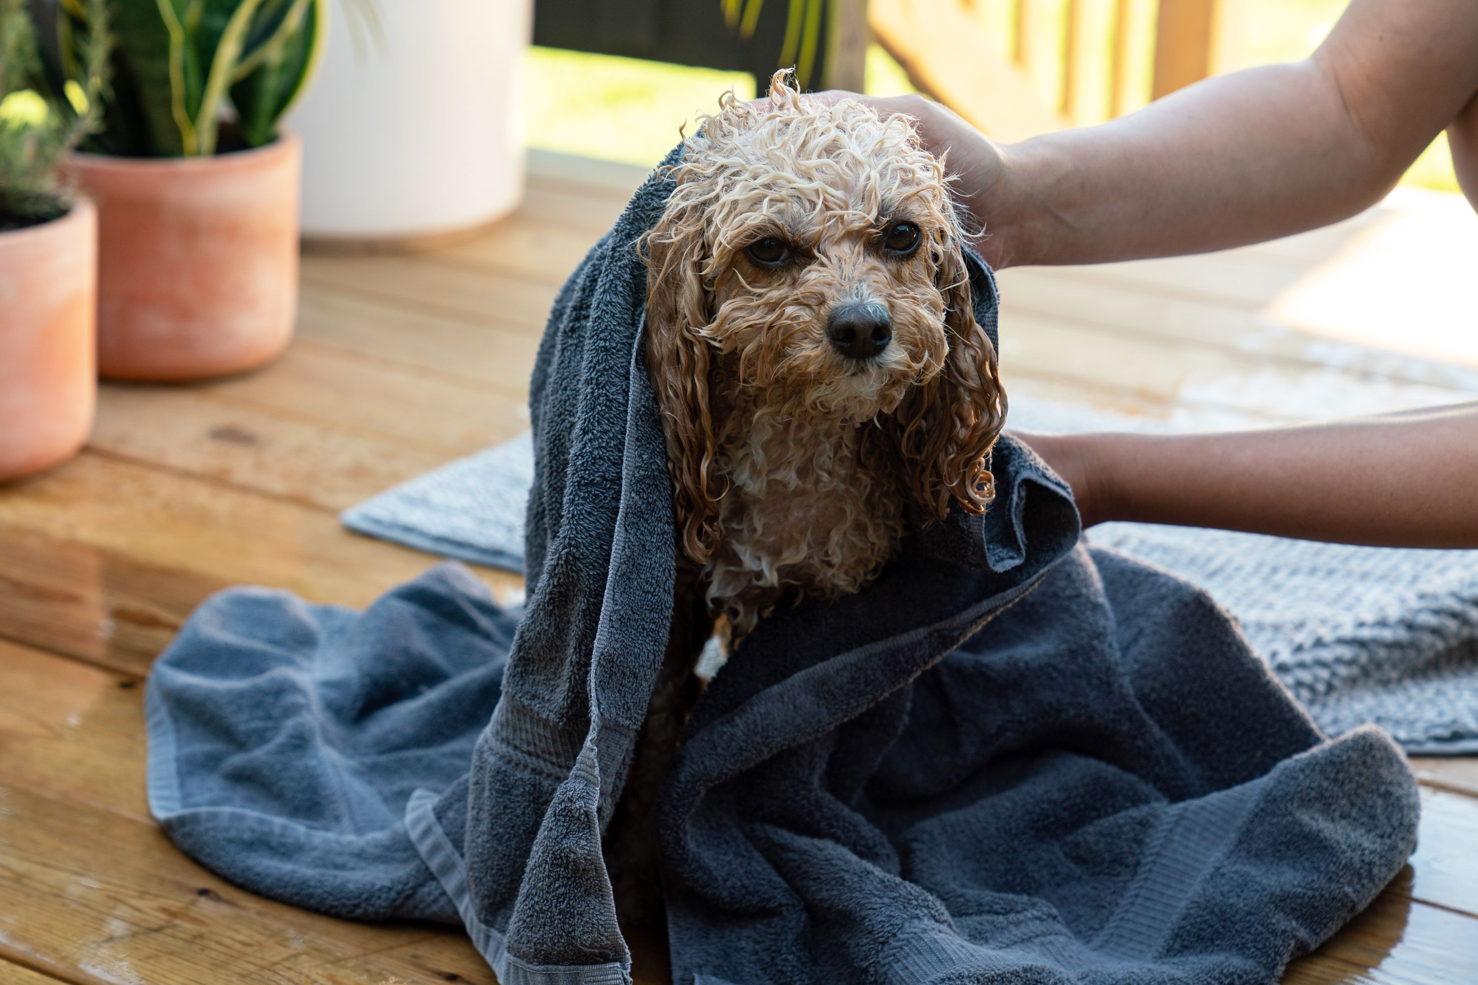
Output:
<path fill-rule="evenodd" d="M 949 353 L 940 372 L 897 409 L 894 434 L 915 502 L 930 520 L 943 520 L 952 499 L 980 514 L 995 498 L 989 455 L 1005 425 L 1007 394 L 996 347 L 975 322 L 958 230 L 930 245 Z"/>

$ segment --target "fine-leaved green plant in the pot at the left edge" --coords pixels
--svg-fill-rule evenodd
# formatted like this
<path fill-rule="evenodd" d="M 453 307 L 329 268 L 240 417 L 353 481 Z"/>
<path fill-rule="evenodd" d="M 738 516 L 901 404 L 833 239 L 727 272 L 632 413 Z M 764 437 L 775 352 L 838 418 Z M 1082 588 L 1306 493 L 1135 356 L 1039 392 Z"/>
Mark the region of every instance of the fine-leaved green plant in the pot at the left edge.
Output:
<path fill-rule="evenodd" d="M 67 211 L 62 157 L 98 128 L 108 86 L 108 0 L 75 0 L 93 30 L 67 38 L 72 71 L 47 80 L 27 0 L 0 0 L 0 230 Z"/>

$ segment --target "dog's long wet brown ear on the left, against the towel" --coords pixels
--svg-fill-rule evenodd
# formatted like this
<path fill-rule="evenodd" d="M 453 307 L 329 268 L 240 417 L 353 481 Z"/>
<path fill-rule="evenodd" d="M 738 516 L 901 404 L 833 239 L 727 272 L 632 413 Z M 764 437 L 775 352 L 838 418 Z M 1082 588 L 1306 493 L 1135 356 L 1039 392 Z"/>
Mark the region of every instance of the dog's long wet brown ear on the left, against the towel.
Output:
<path fill-rule="evenodd" d="M 646 354 L 667 433 L 672 512 L 683 552 L 702 564 L 718 538 L 711 346 L 696 329 L 711 320 L 704 282 L 708 247 L 696 208 L 670 208 L 643 238 L 647 266 Z"/>

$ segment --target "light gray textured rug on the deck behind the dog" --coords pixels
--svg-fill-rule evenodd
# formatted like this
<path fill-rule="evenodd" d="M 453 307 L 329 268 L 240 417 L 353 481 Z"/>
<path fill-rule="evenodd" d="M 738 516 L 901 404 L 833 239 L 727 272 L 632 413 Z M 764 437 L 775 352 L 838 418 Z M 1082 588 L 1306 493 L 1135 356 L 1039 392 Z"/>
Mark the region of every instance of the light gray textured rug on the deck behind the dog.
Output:
<path fill-rule="evenodd" d="M 1147 425 L 1017 397 L 1011 427 Z M 389 489 L 347 509 L 343 521 L 433 554 L 522 572 L 532 478 L 523 434 Z M 1326 732 L 1375 722 L 1411 753 L 1478 753 L 1478 551 L 1355 548 L 1128 523 L 1095 527 L 1091 540 L 1209 591 Z"/>

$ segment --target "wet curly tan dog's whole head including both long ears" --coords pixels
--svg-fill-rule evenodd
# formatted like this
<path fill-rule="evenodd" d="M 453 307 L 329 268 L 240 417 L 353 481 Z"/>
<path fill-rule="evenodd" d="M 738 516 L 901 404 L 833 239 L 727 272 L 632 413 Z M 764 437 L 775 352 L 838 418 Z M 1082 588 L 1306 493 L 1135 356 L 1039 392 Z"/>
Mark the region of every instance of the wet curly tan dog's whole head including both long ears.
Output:
<path fill-rule="evenodd" d="M 1005 394 L 949 179 L 910 120 L 817 102 L 777 74 L 769 108 L 729 96 L 704 118 L 674 179 L 643 255 L 684 551 L 702 560 L 717 535 L 720 363 L 783 413 L 875 422 L 928 517 L 952 499 L 983 511 Z"/>

